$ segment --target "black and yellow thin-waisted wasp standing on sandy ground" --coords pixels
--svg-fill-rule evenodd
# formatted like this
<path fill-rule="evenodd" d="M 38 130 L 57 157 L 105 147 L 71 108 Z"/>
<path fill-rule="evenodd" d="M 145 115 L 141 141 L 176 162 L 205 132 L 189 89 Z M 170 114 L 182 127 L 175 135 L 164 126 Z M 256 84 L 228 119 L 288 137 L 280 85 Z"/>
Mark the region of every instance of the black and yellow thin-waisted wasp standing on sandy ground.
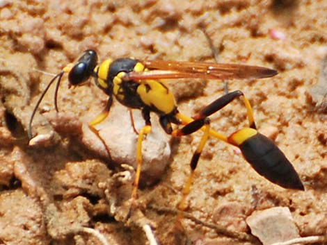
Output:
<path fill-rule="evenodd" d="M 189 193 L 194 171 L 208 137 L 216 137 L 218 140 L 237 146 L 253 169 L 272 183 L 287 189 L 304 190 L 301 179 L 291 162 L 285 157 L 285 154 L 278 149 L 278 146 L 272 140 L 269 140 L 268 137 L 257 131 L 253 110 L 243 92 L 240 90 L 228 92 L 207 105 L 196 115 L 193 115 L 193 117 L 187 117 L 179 112 L 173 93 L 168 85 L 161 81 L 161 79 L 168 78 L 269 78 L 278 74 L 273 69 L 250 65 L 138 60 L 134 58 L 118 58 L 116 60 L 109 58 L 98 63 L 97 53 L 93 50 L 87 50 L 77 62 L 67 65 L 60 73 L 54 76 L 44 92 L 42 92 L 29 121 L 29 139 L 32 138 L 31 127 L 35 112 L 54 81 L 57 81 L 54 103 L 58 111 L 56 96 L 64 74 L 68 75 L 70 86 L 81 85 L 92 77 L 97 87 L 109 96 L 104 110 L 89 123 L 90 129 L 95 133 L 97 133 L 95 125 L 101 123 L 109 115 L 113 97 L 122 105 L 127 106 L 127 108 L 141 110 L 145 126 L 138 132 L 136 147 L 137 169 L 132 198 L 137 196 L 138 183 L 141 176 L 143 137 L 151 132 L 150 112 L 154 112 L 159 116 L 161 127 L 169 135 L 180 137 L 198 130 L 203 131 L 198 148 L 191 158 L 191 174 L 184 186 L 182 200 Z M 210 128 L 209 116 L 239 97 L 243 98 L 249 126 L 237 130 L 230 136 L 225 136 Z M 173 129 L 172 124 L 182 125 L 182 127 Z M 184 201 L 180 202 L 180 208 L 184 208 Z"/>

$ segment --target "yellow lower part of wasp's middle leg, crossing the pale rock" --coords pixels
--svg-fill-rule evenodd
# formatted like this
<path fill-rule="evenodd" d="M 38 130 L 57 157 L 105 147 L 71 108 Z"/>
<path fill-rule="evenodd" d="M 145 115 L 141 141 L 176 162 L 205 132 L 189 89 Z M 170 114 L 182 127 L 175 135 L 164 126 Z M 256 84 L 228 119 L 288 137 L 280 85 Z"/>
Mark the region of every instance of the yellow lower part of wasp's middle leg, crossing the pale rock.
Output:
<path fill-rule="evenodd" d="M 137 189 L 138 189 L 138 183 L 140 182 L 140 176 L 141 176 L 141 167 L 142 167 L 142 142 L 143 142 L 143 135 L 147 135 L 151 132 L 151 126 L 145 125 L 140 132 L 138 133 L 138 141 L 137 141 L 137 149 L 136 149 L 136 162 L 137 162 L 137 168 L 136 168 L 136 176 L 134 180 L 134 187 L 131 192 L 131 198 L 136 199 L 137 198 Z"/>

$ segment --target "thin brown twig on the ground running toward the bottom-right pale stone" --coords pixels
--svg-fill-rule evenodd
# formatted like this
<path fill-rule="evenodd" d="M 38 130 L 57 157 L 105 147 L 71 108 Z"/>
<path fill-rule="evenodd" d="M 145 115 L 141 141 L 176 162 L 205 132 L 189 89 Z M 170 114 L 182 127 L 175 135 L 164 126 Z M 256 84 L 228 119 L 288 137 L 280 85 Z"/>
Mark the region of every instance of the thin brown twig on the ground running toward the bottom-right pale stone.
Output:
<path fill-rule="evenodd" d="M 220 233 L 220 234 L 228 236 L 228 237 L 236 238 L 241 241 L 248 241 L 248 242 L 257 242 L 258 241 L 257 238 L 252 235 L 248 235 L 246 233 L 237 233 L 232 230 L 227 230 L 223 226 L 219 226 L 214 223 L 208 223 L 205 221 L 201 221 L 200 219 L 197 219 L 193 215 L 189 214 L 188 212 L 176 210 L 174 208 L 159 207 L 157 205 L 149 205 L 149 208 L 151 208 L 152 210 L 155 210 L 157 212 L 168 212 L 170 214 L 182 214 L 182 217 L 184 217 L 186 219 L 190 219 L 191 221 L 198 223 L 202 226 L 212 228 L 213 230 L 216 230 L 216 233 Z"/>

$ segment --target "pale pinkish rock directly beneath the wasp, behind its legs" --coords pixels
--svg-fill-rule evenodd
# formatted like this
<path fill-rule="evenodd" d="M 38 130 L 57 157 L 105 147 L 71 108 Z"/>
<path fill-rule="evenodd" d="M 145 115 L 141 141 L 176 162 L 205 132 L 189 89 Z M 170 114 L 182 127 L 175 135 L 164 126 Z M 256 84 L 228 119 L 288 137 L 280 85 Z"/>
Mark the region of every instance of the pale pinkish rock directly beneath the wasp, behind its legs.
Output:
<path fill-rule="evenodd" d="M 159 124 L 157 115 L 151 113 L 152 132 L 142 142 L 141 184 L 150 185 L 161 178 L 164 169 L 170 162 L 170 135 L 167 135 Z M 88 115 L 88 120 L 89 120 Z M 136 130 L 145 126 L 139 110 L 133 110 Z M 83 144 L 105 158 L 111 158 L 118 164 L 129 164 L 136 169 L 136 145 L 138 135 L 134 132 L 129 111 L 119 103 L 113 104 L 109 117 L 96 126 L 99 137 L 88 126 L 83 125 Z M 105 144 L 105 146 L 104 146 Z M 108 149 L 108 151 L 106 151 Z M 110 155 L 110 156 L 109 156 Z"/>

